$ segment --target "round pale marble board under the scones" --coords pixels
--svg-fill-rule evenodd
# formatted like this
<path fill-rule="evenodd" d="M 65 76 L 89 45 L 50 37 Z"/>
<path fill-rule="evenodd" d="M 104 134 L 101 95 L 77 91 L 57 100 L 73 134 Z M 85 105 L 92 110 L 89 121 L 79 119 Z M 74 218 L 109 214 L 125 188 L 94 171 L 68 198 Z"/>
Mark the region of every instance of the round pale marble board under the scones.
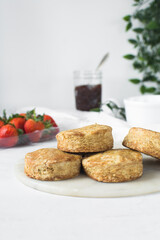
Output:
<path fill-rule="evenodd" d="M 125 183 L 97 182 L 85 174 L 63 181 L 40 181 L 27 177 L 24 160 L 15 165 L 17 178 L 25 185 L 39 191 L 57 195 L 88 198 L 128 197 L 160 192 L 160 160 L 144 158 L 141 178 Z"/>

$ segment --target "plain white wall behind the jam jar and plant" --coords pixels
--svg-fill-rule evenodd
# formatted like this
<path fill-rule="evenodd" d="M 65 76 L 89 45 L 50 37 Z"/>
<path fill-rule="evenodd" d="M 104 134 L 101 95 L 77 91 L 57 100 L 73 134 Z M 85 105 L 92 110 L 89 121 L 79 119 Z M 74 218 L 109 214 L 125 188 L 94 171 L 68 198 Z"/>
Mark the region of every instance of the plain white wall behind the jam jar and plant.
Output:
<path fill-rule="evenodd" d="M 122 20 L 130 12 L 128 0 L 1 0 L 0 110 L 74 108 L 73 71 L 94 70 L 106 52 L 102 102 L 137 95 L 123 59 L 132 49 Z"/>

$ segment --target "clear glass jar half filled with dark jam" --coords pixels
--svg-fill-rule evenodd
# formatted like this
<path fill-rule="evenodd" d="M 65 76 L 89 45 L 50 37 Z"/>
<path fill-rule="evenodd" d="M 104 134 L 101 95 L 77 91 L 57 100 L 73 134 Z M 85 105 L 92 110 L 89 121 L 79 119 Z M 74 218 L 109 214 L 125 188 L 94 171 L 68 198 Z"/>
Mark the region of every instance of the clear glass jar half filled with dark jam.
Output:
<path fill-rule="evenodd" d="M 75 100 L 76 109 L 90 111 L 99 108 L 102 96 L 102 72 L 75 71 Z"/>

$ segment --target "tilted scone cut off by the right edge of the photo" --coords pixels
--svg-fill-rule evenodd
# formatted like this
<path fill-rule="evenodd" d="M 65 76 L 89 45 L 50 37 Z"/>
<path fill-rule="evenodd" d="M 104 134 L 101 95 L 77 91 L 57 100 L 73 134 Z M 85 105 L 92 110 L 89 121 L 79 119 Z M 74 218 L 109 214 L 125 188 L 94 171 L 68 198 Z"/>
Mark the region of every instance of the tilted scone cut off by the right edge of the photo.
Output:
<path fill-rule="evenodd" d="M 133 127 L 123 140 L 125 147 L 160 158 L 160 133 Z"/>

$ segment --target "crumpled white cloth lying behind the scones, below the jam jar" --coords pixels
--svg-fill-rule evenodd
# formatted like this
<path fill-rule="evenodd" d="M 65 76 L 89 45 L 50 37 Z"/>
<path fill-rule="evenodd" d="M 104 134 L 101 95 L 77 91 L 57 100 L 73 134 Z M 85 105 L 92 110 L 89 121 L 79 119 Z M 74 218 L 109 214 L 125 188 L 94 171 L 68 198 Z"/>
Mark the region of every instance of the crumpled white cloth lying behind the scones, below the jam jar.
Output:
<path fill-rule="evenodd" d="M 19 109 L 17 112 L 24 112 L 31 110 L 34 107 L 26 107 Z M 107 108 L 103 112 L 83 112 L 83 111 L 57 111 L 48 108 L 36 107 L 36 112 L 38 114 L 49 114 L 52 116 L 57 124 L 60 126 L 61 130 L 68 130 L 78 127 L 83 127 L 89 124 L 104 124 L 109 125 L 113 129 L 113 136 L 115 139 L 115 146 L 118 142 L 123 141 L 123 138 L 128 133 L 129 125 L 126 121 L 115 118 L 112 112 Z"/>

